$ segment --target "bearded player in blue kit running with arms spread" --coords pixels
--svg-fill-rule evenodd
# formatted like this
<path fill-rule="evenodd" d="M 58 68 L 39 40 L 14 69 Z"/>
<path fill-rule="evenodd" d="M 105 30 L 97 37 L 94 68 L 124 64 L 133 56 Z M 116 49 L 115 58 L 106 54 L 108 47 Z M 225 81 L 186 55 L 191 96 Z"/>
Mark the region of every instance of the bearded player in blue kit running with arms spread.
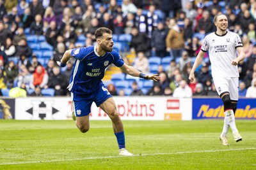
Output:
<path fill-rule="evenodd" d="M 89 131 L 89 114 L 92 103 L 100 107 L 109 116 L 113 124 L 113 130 L 119 147 L 119 155 L 132 155 L 125 149 L 124 126 L 116 110 L 113 97 L 106 89 L 102 78 L 106 69 L 113 63 L 120 67 L 124 73 L 147 80 L 159 80 L 157 74 L 143 74 L 132 66 L 125 64 L 122 57 L 113 50 L 114 42 L 112 31 L 106 27 L 100 27 L 95 31 L 97 45 L 67 50 L 59 66 L 65 67 L 70 57 L 76 59 L 70 77 L 68 90 L 71 92 L 73 103 L 73 119 L 83 133 Z"/>

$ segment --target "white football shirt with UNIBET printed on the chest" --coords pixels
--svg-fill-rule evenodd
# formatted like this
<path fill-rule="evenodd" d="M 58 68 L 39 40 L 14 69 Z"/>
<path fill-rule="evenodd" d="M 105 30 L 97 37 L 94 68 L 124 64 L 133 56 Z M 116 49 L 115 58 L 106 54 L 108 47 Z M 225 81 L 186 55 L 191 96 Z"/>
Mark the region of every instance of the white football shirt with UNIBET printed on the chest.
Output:
<path fill-rule="evenodd" d="M 237 66 L 231 64 L 236 59 L 236 48 L 243 46 L 241 38 L 234 32 L 227 31 L 223 36 L 212 32 L 205 36 L 201 50 L 209 51 L 212 77 L 239 77 Z"/>

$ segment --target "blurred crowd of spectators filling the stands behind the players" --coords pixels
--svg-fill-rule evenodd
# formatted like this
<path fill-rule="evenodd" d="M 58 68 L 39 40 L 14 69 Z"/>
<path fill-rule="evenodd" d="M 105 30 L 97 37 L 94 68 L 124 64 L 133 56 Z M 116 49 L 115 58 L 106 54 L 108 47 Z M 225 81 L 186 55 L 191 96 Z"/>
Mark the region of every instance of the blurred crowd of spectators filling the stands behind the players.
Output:
<path fill-rule="evenodd" d="M 51 89 L 53 96 L 67 96 L 74 62 L 61 69 L 56 61 L 67 49 L 94 45 L 95 30 L 108 27 L 114 43 L 129 35 L 115 48 L 127 64 L 161 77 L 147 86 L 143 80 L 132 81 L 129 90 L 109 81 L 113 96 L 218 96 L 207 55 L 196 82 L 190 83 L 188 76 L 202 40 L 215 31 L 214 16 L 224 13 L 229 31 L 241 36 L 246 52 L 238 65 L 239 96 L 256 97 L 255 7 L 256 0 L 0 0 L 0 92 L 44 96 Z M 136 59 L 129 63 L 125 54 L 132 52 Z M 161 62 L 152 64 L 153 59 Z"/>

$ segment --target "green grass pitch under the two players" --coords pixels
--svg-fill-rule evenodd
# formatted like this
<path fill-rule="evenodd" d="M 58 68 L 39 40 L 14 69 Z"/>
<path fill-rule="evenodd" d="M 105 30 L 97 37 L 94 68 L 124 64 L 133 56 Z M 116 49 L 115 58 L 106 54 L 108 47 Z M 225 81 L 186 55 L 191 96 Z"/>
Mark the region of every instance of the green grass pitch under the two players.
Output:
<path fill-rule="evenodd" d="M 120 157 L 110 121 L 0 120 L 0 169 L 256 169 L 256 122 L 236 124 L 243 141 L 222 146 L 223 120 L 124 121 Z"/>

